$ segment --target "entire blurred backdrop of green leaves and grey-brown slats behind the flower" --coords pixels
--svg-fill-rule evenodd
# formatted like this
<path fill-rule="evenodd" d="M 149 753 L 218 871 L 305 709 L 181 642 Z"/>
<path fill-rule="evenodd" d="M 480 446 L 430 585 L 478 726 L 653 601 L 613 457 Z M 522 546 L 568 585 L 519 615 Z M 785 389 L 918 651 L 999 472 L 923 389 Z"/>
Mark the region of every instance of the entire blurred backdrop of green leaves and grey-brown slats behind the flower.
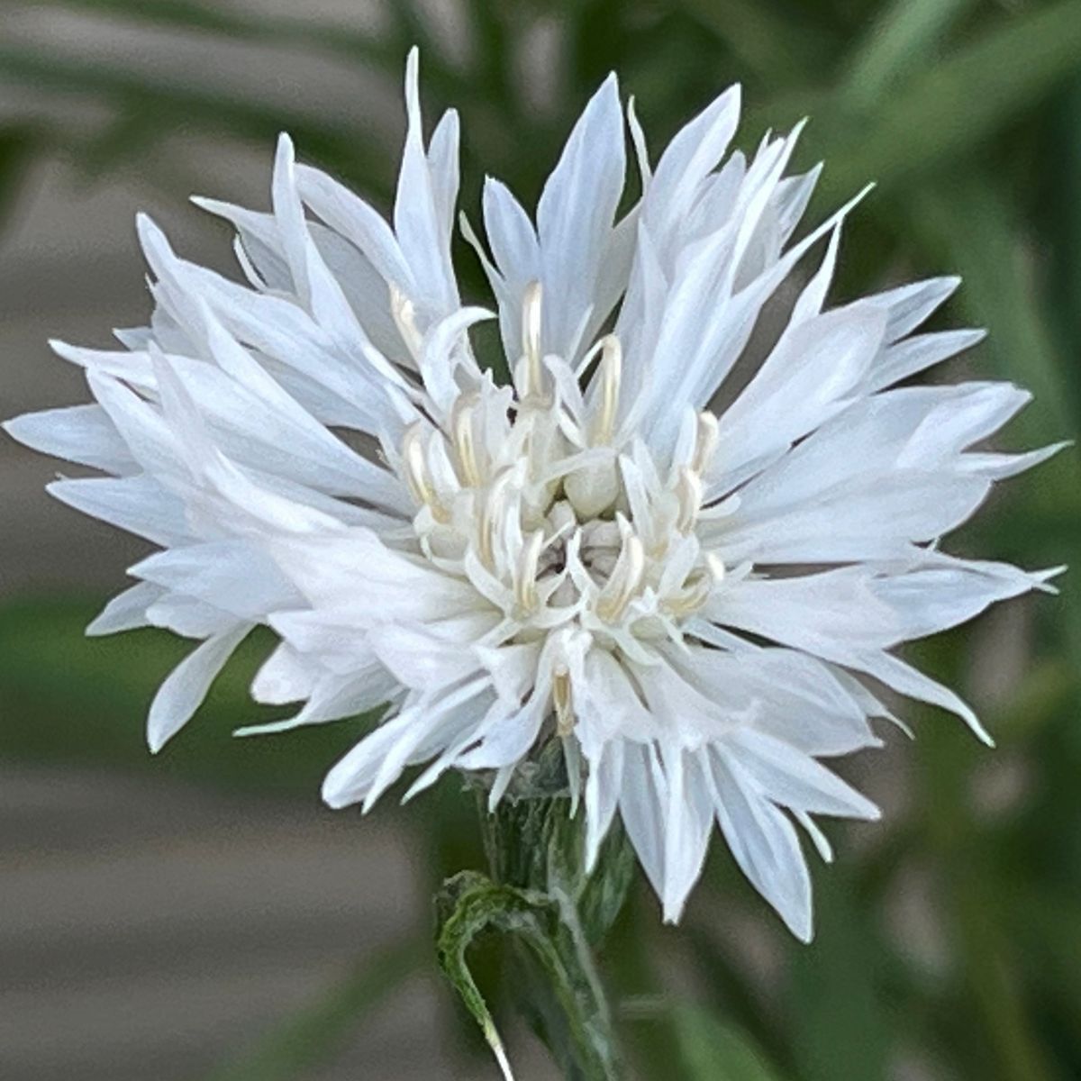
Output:
<path fill-rule="evenodd" d="M 1081 2 L 1058 0 L 66 0 L 0 2 L 4 416 L 84 398 L 46 334 L 103 343 L 145 318 L 132 218 L 228 265 L 191 191 L 265 205 L 272 142 L 382 205 L 422 46 L 428 117 L 463 115 L 461 205 L 485 173 L 532 199 L 615 68 L 654 150 L 728 83 L 739 135 L 810 115 L 812 216 L 866 181 L 842 299 L 959 272 L 942 323 L 990 330 L 936 377 L 1036 393 L 1005 437 L 1081 417 Z M 471 256 L 466 286 L 480 293 Z M 51 506 L 58 465 L 0 445 L 0 1076 L 486 1078 L 435 980 L 428 898 L 480 867 L 472 798 L 448 778 L 370 819 L 317 802 L 349 723 L 233 740 L 267 648 L 150 759 L 142 723 L 185 652 L 81 628 L 139 549 Z M 1081 458 L 1013 481 L 955 550 L 1081 564 Z M 1081 578 L 913 651 L 999 740 L 911 705 L 918 740 L 844 772 L 884 810 L 829 829 L 817 937 L 790 939 L 713 846 L 678 930 L 636 888 L 602 963 L 642 1078 L 1081 1078 Z M 524 1078 L 555 1072 L 511 1019 L 499 950 L 480 979 Z"/>

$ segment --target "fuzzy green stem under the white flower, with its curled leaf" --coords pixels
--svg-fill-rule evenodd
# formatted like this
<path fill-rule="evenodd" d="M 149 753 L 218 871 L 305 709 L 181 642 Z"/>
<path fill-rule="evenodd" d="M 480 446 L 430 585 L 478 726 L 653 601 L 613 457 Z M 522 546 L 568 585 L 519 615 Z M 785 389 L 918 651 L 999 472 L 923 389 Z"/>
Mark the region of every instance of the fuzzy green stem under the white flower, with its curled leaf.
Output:
<path fill-rule="evenodd" d="M 479 935 L 502 934 L 518 1005 L 563 1075 L 617 1081 L 625 1071 L 593 949 L 623 906 L 632 855 L 616 826 L 586 876 L 583 815 L 571 814 L 558 748 L 535 766 L 496 811 L 480 796 L 491 878 L 463 871 L 444 883 L 437 897 L 440 965 L 509 1078 L 508 1057 L 466 961 Z"/>

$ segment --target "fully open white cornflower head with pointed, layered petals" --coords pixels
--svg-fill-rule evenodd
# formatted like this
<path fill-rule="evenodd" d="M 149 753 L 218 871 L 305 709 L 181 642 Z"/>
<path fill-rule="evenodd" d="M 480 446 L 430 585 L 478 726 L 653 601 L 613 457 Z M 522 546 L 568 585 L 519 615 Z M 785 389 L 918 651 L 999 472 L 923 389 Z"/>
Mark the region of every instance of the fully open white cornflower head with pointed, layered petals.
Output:
<path fill-rule="evenodd" d="M 419 763 L 406 795 L 491 771 L 495 804 L 560 739 L 590 863 L 618 812 L 677 920 L 716 819 L 808 938 L 793 820 L 829 858 L 812 815 L 878 814 L 819 761 L 879 744 L 869 720 L 889 715 L 859 677 L 984 736 L 890 651 L 1050 577 L 937 540 L 1055 448 L 971 450 L 1028 400 L 1010 384 L 896 386 L 978 341 L 913 333 L 955 279 L 825 307 L 850 208 L 791 242 L 818 171 L 786 175 L 798 130 L 725 157 L 736 88 L 652 173 L 627 116 L 644 193 L 623 217 L 614 77 L 535 225 L 485 185 L 491 255 L 464 228 L 497 302 L 499 386 L 469 341 L 488 312 L 462 305 L 451 263 L 457 117 L 425 146 L 415 54 L 406 103 L 392 224 L 282 137 L 271 213 L 201 201 L 236 226 L 248 285 L 178 258 L 142 218 L 151 324 L 118 332 L 116 351 L 55 345 L 97 404 L 9 431 L 107 473 L 51 491 L 162 549 L 90 632 L 201 640 L 154 702 L 154 749 L 256 624 L 281 644 L 255 698 L 303 703 L 265 728 L 388 703 L 330 772 L 334 806 L 368 809 Z M 823 239 L 768 356 L 733 376 Z"/>

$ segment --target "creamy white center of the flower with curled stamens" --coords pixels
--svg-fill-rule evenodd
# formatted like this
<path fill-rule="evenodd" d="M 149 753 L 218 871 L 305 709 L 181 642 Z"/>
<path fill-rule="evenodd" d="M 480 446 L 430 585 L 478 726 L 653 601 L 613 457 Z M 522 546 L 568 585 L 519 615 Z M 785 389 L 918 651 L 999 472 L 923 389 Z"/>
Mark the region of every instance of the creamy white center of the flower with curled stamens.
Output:
<path fill-rule="evenodd" d="M 619 341 L 608 335 L 586 356 L 579 371 L 596 370 L 584 389 L 540 341 L 534 283 L 513 386 L 475 379 L 442 423 L 405 432 L 399 469 L 416 538 L 517 632 L 577 623 L 641 656 L 651 640 L 680 640 L 723 575 L 696 535 L 717 419 L 689 418 L 684 450 L 662 468 L 626 421 Z"/>

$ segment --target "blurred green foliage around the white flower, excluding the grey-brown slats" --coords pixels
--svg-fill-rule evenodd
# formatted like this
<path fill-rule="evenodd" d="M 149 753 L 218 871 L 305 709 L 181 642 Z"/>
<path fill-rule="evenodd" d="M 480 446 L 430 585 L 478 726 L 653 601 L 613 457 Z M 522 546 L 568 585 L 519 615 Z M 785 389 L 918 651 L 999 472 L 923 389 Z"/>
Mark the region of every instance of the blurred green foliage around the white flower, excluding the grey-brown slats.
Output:
<path fill-rule="evenodd" d="M 1011 439 L 1033 444 L 1078 430 L 1081 0 L 450 6 L 464 29 L 462 49 L 448 45 L 414 0 L 388 3 L 374 23 L 358 18 L 356 28 L 211 0 L 0 2 L 0 25 L 17 8 L 55 11 L 245 43 L 265 50 L 268 65 L 277 50 L 303 52 L 353 65 L 388 88 L 401 78 L 408 46 L 419 43 L 429 106 L 463 114 L 463 206 L 470 214 L 485 172 L 535 197 L 576 111 L 610 68 L 636 94 L 654 146 L 740 80 L 745 144 L 766 125 L 812 116 L 801 154 L 803 164 L 827 161 L 819 211 L 866 179 L 879 184 L 852 218 L 838 294 L 961 273 L 966 284 L 947 316 L 991 331 L 965 371 L 1036 391 Z M 546 57 L 539 76 L 538 56 Z M 0 126 L 0 223 L 38 157 L 66 155 L 94 177 L 137 162 L 142 175 L 179 196 L 177 137 L 268 147 L 281 129 L 309 160 L 386 204 L 397 149 L 368 125 L 362 104 L 355 120 L 328 120 L 319 101 L 285 108 L 257 90 L 225 89 L 212 64 L 178 78 L 89 50 L 0 37 L 0 85 L 49 105 Z M 99 106 L 104 122 L 88 123 L 77 111 L 67 119 L 68 102 Z M 1015 482 L 957 543 L 1026 565 L 1081 564 L 1079 526 L 1081 461 L 1069 451 Z M 1014 685 L 978 703 L 1001 750 L 989 760 L 959 725 L 906 710 L 920 739 L 911 750 L 894 742 L 891 751 L 907 774 L 894 800 L 903 805 L 891 808 L 873 835 L 839 831 L 842 867 L 815 876 L 812 947 L 779 931 L 719 843 L 679 931 L 663 929 L 652 899 L 636 888 L 601 960 L 640 1076 L 877 1081 L 903 1076 L 907 1063 L 922 1072 L 905 1077 L 932 1081 L 1081 1077 L 1081 576 L 1062 585 L 1057 602 L 1018 606 L 1032 626 L 1000 622 L 996 633 L 977 627 L 919 651 L 931 670 L 970 690 L 974 669 L 1024 658 Z M 0 612 L 4 755 L 108 761 L 313 798 L 321 770 L 363 724 L 230 742 L 228 730 L 251 719 L 246 682 L 266 649 L 256 639 L 219 680 L 200 723 L 151 763 L 141 719 L 184 645 L 152 632 L 86 641 L 81 627 L 90 615 L 81 603 L 31 598 Z M 1020 778 L 1016 790 L 1011 776 Z M 1006 789 L 997 801 L 987 797 L 996 784 Z M 430 845 L 433 888 L 454 870 L 480 866 L 471 800 L 453 782 L 424 808 L 400 813 Z M 391 989 L 390 973 L 412 971 L 414 957 L 368 959 L 374 967 L 366 975 L 329 991 L 266 1046 L 215 1076 L 303 1076 L 312 1033 L 321 1045 L 351 1018 L 359 1024 L 378 990 Z M 482 957 L 471 969 L 498 1022 L 512 989 L 497 961 Z M 477 1050 L 465 1024 L 462 1031 L 463 1053 Z"/>

